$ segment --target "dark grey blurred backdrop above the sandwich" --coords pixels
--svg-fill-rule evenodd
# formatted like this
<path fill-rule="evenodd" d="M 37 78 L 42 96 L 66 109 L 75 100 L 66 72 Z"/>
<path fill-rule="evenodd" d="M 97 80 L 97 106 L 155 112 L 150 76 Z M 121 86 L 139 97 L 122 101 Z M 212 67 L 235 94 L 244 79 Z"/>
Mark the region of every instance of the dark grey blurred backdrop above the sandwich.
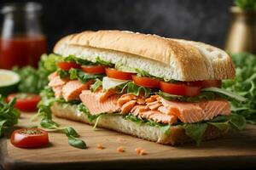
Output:
<path fill-rule="evenodd" d="M 1 0 L 3 3 L 26 2 Z M 49 51 L 61 37 L 119 29 L 208 42 L 223 48 L 233 0 L 41 0 Z"/>

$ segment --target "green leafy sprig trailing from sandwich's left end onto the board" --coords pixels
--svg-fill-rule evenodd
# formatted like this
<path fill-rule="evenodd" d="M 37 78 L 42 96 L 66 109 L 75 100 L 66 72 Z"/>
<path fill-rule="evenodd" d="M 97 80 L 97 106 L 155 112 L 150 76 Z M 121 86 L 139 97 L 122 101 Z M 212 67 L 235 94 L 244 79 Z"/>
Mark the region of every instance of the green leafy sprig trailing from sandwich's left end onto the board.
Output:
<path fill-rule="evenodd" d="M 68 138 L 68 144 L 79 149 L 86 148 L 86 144 L 83 140 L 78 139 L 79 134 L 73 129 L 73 127 L 60 127 L 58 123 L 52 121 L 50 107 L 55 102 L 60 101 L 60 99 L 55 99 L 54 93 L 49 87 L 44 88 L 40 95 L 42 100 L 38 103 L 38 114 L 36 116 L 42 117 L 40 122 L 41 127 L 65 133 Z"/>

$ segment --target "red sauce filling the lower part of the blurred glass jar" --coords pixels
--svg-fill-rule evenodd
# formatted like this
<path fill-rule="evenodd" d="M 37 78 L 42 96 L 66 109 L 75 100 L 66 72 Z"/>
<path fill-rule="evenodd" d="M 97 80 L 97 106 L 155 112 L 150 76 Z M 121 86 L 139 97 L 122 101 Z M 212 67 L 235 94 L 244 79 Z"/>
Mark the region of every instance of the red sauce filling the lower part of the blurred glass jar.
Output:
<path fill-rule="evenodd" d="M 0 38 L 0 68 L 12 69 L 15 65 L 37 67 L 40 56 L 46 49 L 44 36 Z"/>

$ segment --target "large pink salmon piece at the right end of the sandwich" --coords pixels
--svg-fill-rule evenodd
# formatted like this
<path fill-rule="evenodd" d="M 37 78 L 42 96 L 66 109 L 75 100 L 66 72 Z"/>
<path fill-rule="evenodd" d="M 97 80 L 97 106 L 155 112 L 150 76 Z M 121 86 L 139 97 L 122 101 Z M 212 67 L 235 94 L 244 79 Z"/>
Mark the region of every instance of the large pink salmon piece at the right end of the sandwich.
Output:
<path fill-rule="evenodd" d="M 218 115 L 230 115 L 230 104 L 225 99 L 203 100 L 197 103 L 169 101 L 160 98 L 165 108 L 159 110 L 177 116 L 182 122 L 201 122 Z"/>

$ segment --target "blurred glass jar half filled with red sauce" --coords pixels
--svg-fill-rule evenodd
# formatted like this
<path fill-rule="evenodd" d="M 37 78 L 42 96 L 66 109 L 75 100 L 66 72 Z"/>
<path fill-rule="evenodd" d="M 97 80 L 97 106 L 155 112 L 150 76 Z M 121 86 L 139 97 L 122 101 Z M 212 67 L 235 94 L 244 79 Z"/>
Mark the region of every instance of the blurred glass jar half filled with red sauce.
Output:
<path fill-rule="evenodd" d="M 1 8 L 0 68 L 38 66 L 47 50 L 39 20 L 41 8 L 39 3 L 9 3 Z"/>

